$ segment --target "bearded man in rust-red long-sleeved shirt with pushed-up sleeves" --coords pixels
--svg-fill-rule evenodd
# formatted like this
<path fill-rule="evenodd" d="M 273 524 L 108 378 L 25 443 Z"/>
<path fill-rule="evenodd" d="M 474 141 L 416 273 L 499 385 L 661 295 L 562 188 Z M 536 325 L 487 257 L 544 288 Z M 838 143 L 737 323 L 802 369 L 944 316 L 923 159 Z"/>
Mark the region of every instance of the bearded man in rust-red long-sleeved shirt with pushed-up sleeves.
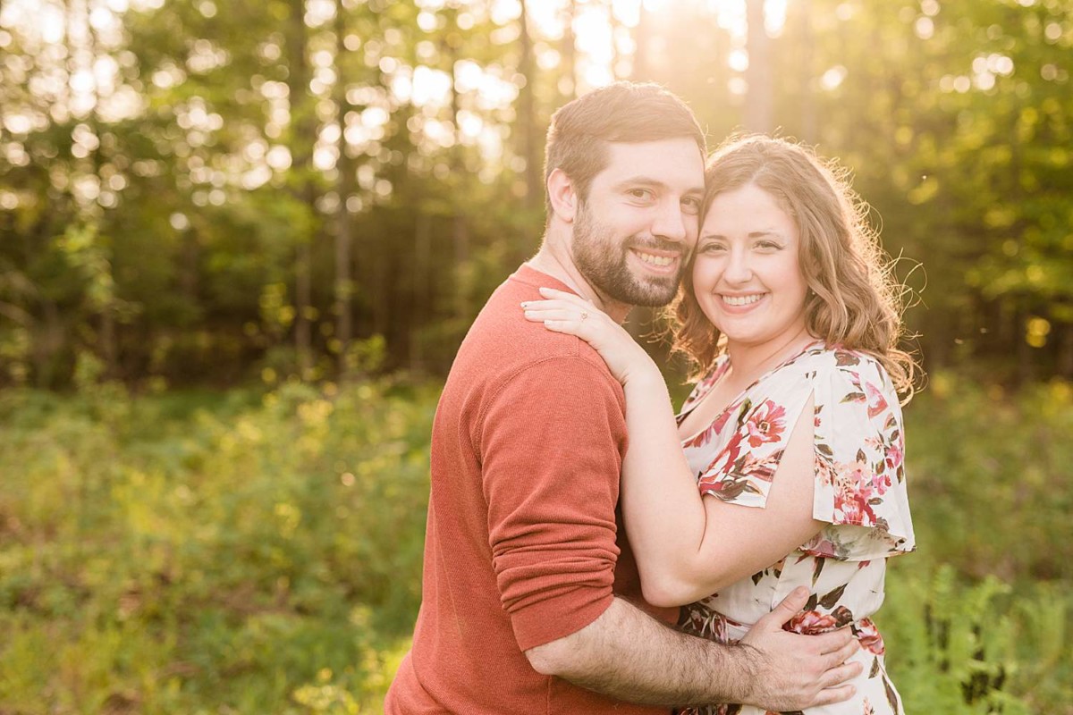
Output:
<path fill-rule="evenodd" d="M 612 85 L 556 113 L 546 164 L 543 244 L 488 300 L 440 398 L 423 602 L 387 713 L 785 711 L 844 699 L 835 686 L 858 670 L 841 665 L 856 647 L 849 634 L 780 629 L 805 594 L 740 645 L 646 612 L 616 519 L 622 389 L 586 343 L 527 323 L 519 307 L 541 286 L 618 319 L 671 300 L 704 192 L 695 118 L 655 85 Z"/>

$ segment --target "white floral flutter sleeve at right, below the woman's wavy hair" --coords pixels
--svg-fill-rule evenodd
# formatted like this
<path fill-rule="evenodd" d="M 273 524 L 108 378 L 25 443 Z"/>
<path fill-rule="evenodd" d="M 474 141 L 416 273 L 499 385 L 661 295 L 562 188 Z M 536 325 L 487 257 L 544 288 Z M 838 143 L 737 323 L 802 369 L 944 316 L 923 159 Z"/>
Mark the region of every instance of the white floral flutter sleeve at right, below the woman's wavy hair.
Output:
<path fill-rule="evenodd" d="M 802 550 L 847 561 L 912 551 L 897 392 L 870 356 L 834 349 L 825 357 L 813 379 L 812 517 L 837 528 L 824 530 Z"/>

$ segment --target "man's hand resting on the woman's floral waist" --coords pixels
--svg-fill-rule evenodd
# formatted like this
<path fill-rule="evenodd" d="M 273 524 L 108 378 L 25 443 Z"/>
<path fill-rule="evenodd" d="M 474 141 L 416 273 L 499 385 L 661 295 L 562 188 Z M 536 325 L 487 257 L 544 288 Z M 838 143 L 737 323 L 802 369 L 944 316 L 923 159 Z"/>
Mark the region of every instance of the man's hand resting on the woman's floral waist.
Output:
<path fill-rule="evenodd" d="M 864 666 L 846 662 L 861 647 L 849 628 L 819 636 L 798 636 L 782 625 L 804 608 L 808 590 L 798 586 L 741 639 L 755 656 L 755 676 L 747 702 L 775 712 L 842 702 L 855 688 L 847 681 Z"/>

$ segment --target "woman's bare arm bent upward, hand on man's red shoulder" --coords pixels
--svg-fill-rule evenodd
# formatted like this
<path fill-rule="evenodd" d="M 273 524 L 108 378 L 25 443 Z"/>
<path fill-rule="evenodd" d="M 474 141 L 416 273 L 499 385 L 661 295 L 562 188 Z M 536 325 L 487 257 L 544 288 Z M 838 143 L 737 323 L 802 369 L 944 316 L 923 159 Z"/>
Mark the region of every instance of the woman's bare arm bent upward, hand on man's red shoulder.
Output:
<path fill-rule="evenodd" d="M 763 509 L 702 497 L 681 449 L 659 369 L 626 330 L 587 301 L 550 289 L 526 317 L 588 342 L 626 390 L 630 447 L 621 500 L 645 598 L 679 606 L 778 562 L 823 524 L 812 519 L 812 401 L 776 471 Z M 583 317 L 584 314 L 584 317 Z"/>

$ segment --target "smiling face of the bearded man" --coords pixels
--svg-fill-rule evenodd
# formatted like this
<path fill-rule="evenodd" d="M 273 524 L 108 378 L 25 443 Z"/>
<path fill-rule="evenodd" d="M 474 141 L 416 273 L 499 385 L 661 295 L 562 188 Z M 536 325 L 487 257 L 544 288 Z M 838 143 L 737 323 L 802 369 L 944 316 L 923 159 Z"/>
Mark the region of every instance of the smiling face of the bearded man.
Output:
<path fill-rule="evenodd" d="M 573 259 L 606 298 L 665 306 L 696 243 L 704 158 L 690 138 L 607 145 L 574 219 Z"/>

